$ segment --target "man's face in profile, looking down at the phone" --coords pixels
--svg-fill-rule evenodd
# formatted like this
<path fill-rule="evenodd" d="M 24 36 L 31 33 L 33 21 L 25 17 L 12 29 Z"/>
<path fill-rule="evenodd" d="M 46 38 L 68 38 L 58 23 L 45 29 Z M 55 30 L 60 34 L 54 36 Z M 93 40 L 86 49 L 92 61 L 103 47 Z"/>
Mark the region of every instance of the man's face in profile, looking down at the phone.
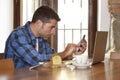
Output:
<path fill-rule="evenodd" d="M 39 29 L 39 37 L 49 38 L 55 35 L 57 21 L 51 19 L 49 23 L 43 23 L 42 27 Z"/>

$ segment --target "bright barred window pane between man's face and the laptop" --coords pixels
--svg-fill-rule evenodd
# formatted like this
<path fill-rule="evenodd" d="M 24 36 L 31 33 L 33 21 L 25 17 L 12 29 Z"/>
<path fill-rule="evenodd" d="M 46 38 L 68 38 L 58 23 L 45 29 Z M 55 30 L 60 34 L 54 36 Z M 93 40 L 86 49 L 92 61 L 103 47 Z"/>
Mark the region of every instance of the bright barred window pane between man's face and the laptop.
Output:
<path fill-rule="evenodd" d="M 84 34 L 88 41 L 88 0 L 58 0 L 58 14 L 58 52 L 79 43 Z"/>

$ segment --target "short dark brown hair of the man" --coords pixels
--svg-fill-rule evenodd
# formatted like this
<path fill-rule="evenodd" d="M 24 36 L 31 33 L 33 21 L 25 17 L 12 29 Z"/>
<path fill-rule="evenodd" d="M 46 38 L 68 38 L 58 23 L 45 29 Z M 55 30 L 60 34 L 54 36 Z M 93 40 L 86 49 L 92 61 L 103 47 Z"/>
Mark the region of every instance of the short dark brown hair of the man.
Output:
<path fill-rule="evenodd" d="M 50 19 L 55 19 L 60 21 L 58 14 L 48 6 L 39 7 L 32 18 L 32 22 L 36 22 L 37 20 L 41 20 L 42 22 L 49 22 Z"/>

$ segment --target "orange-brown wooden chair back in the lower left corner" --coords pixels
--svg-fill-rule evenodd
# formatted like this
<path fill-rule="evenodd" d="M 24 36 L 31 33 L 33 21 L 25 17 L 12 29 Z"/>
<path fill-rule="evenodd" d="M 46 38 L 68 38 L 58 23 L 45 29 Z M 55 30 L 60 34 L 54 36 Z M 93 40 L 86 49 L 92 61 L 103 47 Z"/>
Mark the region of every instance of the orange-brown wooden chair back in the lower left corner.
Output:
<path fill-rule="evenodd" d="M 1 59 L 0 60 L 0 74 L 12 74 L 14 73 L 13 59 Z"/>

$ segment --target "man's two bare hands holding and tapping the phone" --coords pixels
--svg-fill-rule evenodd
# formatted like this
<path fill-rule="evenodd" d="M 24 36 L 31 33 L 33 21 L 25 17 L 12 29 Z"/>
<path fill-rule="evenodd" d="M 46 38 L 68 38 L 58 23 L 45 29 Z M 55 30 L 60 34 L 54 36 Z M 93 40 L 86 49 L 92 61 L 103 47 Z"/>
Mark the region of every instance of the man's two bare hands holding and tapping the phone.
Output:
<path fill-rule="evenodd" d="M 81 40 L 80 43 L 73 44 L 69 43 L 65 50 L 63 52 L 59 52 L 59 55 L 62 57 L 62 59 L 72 59 L 73 54 L 80 55 L 85 52 L 87 47 L 86 40 Z"/>

